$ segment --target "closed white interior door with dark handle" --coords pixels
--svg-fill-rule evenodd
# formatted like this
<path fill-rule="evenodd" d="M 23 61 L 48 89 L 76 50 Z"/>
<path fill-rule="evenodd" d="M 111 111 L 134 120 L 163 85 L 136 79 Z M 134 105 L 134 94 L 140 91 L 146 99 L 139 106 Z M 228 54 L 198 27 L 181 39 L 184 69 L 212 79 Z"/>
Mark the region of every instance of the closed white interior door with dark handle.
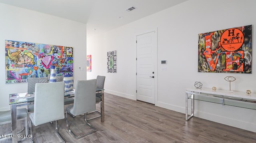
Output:
<path fill-rule="evenodd" d="M 157 70 L 156 31 L 136 36 L 136 48 L 137 100 L 155 104 Z"/>

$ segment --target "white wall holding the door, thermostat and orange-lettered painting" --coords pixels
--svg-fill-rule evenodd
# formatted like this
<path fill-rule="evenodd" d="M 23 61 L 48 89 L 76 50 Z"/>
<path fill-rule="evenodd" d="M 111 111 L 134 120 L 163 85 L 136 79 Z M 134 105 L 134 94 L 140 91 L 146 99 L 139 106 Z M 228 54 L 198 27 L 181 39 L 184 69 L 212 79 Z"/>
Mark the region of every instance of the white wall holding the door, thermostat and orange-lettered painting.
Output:
<path fill-rule="evenodd" d="M 232 89 L 255 89 L 255 58 L 252 74 L 198 73 L 198 34 L 254 25 L 254 0 L 189 0 L 151 16 L 106 33 L 87 36 L 87 54 L 92 55 L 92 72 L 87 78 L 105 75 L 108 93 L 136 99 L 136 35 L 158 30 L 158 93 L 156 106 L 185 113 L 185 89 L 195 81 L 203 87 L 229 89 L 224 77 L 236 81 Z M 98 35 L 98 36 L 97 36 Z M 255 35 L 253 30 L 252 36 Z M 253 37 L 253 41 L 255 38 Z M 252 44 L 252 55 L 256 50 Z M 106 52 L 117 50 L 117 73 L 106 72 Z M 167 60 L 167 71 L 161 71 L 160 60 Z M 256 132 L 256 111 L 237 107 L 221 107 L 214 103 L 196 103 L 195 116 Z M 184 115 L 185 121 L 185 115 Z"/>

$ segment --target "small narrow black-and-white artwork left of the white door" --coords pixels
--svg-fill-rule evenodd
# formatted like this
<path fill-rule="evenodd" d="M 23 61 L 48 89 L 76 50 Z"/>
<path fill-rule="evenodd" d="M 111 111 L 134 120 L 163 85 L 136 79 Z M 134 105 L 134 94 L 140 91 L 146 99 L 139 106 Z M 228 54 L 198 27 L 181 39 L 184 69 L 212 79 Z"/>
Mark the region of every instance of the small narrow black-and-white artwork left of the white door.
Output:
<path fill-rule="evenodd" d="M 107 72 L 116 73 L 116 51 L 107 52 Z"/>

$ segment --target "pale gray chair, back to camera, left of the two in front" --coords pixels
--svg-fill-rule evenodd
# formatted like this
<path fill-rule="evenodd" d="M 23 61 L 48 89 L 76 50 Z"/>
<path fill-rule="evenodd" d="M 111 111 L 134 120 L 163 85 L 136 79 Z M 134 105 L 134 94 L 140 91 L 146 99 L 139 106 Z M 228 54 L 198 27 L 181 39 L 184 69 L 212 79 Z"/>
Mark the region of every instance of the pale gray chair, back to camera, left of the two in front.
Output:
<path fill-rule="evenodd" d="M 30 113 L 30 134 L 32 137 L 32 124 L 35 126 L 55 121 L 58 135 L 57 120 L 64 119 L 64 82 L 36 83 L 34 95 L 34 113 Z M 65 140 L 64 140 L 65 141 Z"/>

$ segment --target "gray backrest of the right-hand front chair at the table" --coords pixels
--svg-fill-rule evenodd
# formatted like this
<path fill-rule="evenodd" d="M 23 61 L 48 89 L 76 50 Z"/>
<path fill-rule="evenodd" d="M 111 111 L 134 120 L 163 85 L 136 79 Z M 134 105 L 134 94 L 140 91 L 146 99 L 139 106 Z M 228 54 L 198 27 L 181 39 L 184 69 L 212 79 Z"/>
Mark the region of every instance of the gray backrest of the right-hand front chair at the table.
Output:
<path fill-rule="evenodd" d="M 96 79 L 76 81 L 74 108 L 71 114 L 81 115 L 96 110 Z"/>

